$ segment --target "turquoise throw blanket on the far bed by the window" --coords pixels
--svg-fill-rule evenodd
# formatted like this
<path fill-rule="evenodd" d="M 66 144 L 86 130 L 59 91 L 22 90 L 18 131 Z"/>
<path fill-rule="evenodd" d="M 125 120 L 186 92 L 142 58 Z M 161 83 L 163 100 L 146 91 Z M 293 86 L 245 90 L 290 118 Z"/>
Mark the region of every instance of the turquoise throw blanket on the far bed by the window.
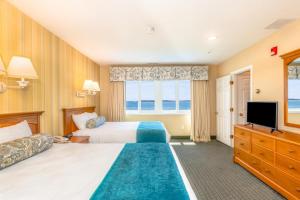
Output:
<path fill-rule="evenodd" d="M 136 142 L 166 143 L 166 131 L 161 122 L 140 122 L 136 131 Z"/>

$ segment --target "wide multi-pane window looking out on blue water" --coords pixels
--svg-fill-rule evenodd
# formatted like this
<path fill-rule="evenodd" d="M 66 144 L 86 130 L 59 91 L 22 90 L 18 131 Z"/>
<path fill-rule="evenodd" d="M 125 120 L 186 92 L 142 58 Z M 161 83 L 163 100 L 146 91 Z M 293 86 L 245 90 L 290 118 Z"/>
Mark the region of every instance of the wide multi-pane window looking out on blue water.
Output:
<path fill-rule="evenodd" d="M 126 81 L 128 113 L 174 113 L 190 110 L 190 81 Z"/>

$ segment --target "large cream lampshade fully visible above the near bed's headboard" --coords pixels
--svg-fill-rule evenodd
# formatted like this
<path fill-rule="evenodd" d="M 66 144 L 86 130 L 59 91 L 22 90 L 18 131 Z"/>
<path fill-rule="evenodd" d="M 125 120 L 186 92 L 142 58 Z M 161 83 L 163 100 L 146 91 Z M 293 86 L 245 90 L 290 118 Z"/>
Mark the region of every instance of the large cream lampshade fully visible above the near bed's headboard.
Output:
<path fill-rule="evenodd" d="M 20 56 L 12 57 L 8 65 L 7 75 L 14 78 L 38 78 L 31 60 Z"/>

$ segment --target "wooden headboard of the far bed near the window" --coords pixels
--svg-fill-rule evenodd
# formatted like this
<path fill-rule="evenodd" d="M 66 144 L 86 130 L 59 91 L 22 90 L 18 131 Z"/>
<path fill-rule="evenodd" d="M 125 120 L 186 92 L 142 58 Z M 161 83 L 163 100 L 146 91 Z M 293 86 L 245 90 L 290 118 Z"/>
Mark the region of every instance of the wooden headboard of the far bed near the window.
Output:
<path fill-rule="evenodd" d="M 81 107 L 81 108 L 64 108 L 63 117 L 64 117 L 64 135 L 71 134 L 74 131 L 77 131 L 78 128 L 73 122 L 73 114 L 81 114 L 84 112 L 95 112 L 95 107 Z"/>

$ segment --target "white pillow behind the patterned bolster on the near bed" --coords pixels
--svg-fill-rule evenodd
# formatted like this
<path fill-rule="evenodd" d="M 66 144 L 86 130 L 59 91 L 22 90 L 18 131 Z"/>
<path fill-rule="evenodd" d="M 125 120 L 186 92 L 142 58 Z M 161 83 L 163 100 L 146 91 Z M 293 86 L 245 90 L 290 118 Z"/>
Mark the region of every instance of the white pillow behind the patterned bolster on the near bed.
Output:
<path fill-rule="evenodd" d="M 32 136 L 32 132 L 26 120 L 13 126 L 0 128 L 0 143 L 28 136 Z"/>

